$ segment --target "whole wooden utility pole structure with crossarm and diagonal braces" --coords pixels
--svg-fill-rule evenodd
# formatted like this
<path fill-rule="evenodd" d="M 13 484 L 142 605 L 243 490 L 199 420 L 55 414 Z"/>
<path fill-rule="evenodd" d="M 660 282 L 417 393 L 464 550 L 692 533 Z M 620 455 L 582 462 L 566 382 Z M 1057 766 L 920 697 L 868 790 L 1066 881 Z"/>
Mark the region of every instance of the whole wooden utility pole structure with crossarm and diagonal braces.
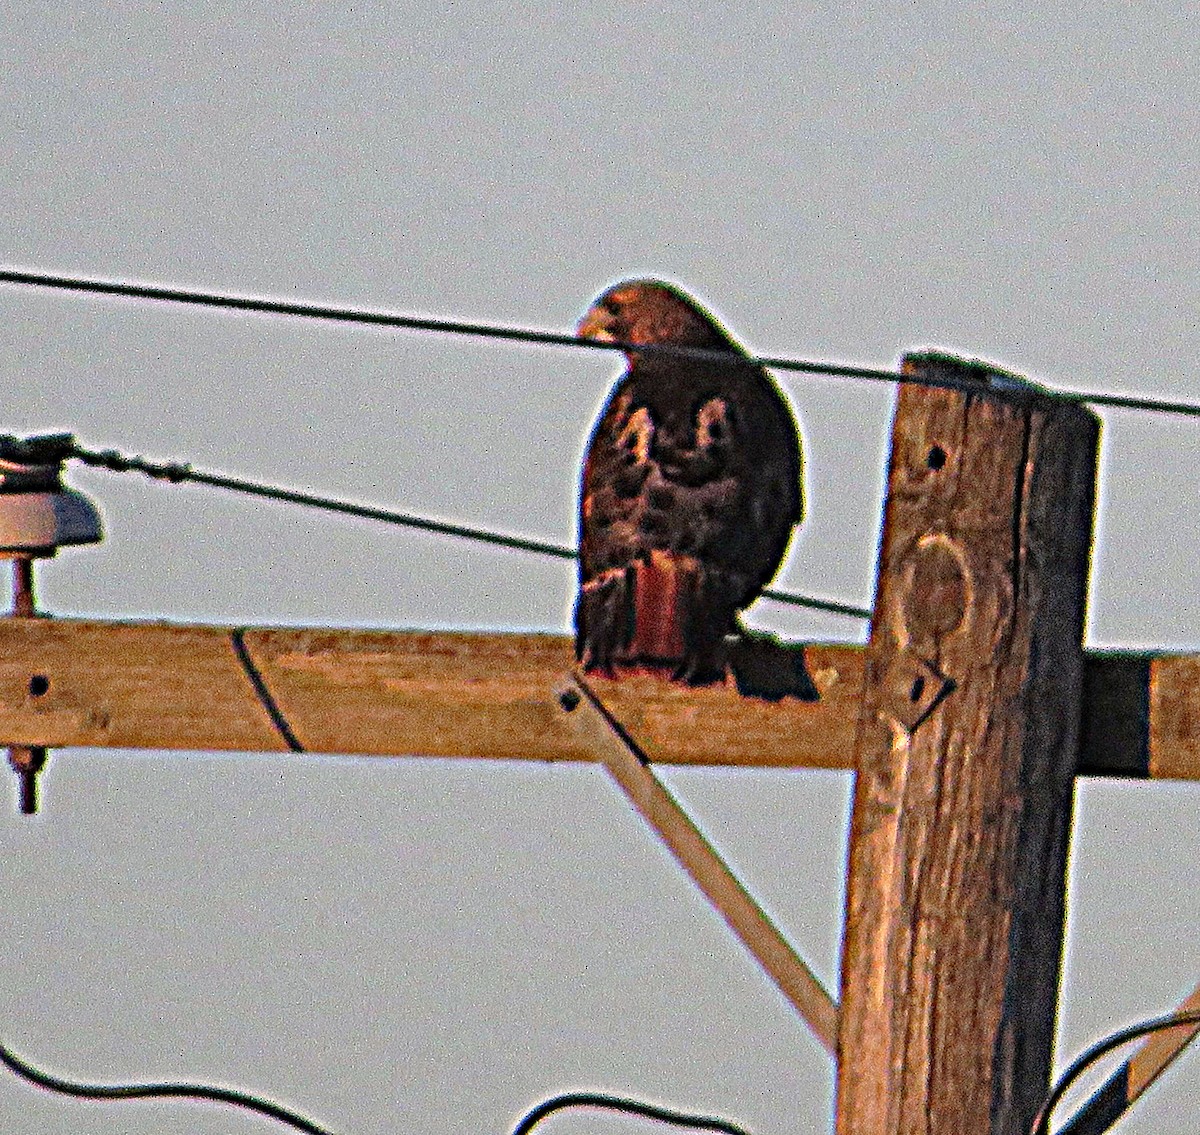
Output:
<path fill-rule="evenodd" d="M 780 648 L 815 699 L 584 680 L 563 636 L 11 618 L 0 745 L 600 761 L 836 1047 L 838 1135 L 1026 1135 L 1074 777 L 1200 780 L 1200 656 L 1082 651 L 1093 415 L 982 364 L 904 370 L 925 385 L 898 401 L 870 643 Z M 857 769 L 840 1005 L 660 762 Z M 1193 1035 L 1148 1041 L 1072 1130 L 1102 1130 Z"/>

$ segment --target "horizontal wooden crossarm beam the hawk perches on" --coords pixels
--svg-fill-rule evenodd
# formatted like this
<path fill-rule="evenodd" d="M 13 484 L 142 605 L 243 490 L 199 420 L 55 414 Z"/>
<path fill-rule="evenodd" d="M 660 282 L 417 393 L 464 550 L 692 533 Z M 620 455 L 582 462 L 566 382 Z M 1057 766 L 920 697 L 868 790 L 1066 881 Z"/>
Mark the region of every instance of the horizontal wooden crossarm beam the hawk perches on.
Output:
<path fill-rule="evenodd" d="M 589 759 L 553 725 L 548 691 L 572 665 L 563 636 L 250 627 L 244 641 L 308 752 Z M 655 761 L 848 769 L 864 649 L 804 653 L 818 702 L 592 680 Z M 1100 654 L 1085 674 L 1081 773 L 1200 780 L 1200 656 Z M 230 627 L 0 618 L 2 744 L 288 747 Z"/>

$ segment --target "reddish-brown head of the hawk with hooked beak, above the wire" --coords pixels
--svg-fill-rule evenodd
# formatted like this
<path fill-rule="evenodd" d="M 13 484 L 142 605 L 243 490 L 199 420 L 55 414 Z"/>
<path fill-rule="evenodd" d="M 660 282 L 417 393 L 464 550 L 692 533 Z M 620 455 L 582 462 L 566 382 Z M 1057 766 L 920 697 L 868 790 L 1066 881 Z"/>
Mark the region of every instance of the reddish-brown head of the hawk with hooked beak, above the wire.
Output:
<path fill-rule="evenodd" d="M 613 284 L 584 312 L 575 334 L 601 343 L 738 349 L 700 304 L 660 280 L 626 280 Z"/>

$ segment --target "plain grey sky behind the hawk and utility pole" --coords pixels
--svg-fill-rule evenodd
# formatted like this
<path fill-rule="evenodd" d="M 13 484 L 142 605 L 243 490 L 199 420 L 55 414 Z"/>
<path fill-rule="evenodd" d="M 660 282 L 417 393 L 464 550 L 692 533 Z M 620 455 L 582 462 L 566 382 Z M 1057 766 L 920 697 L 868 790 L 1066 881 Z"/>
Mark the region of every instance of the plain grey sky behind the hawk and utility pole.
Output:
<path fill-rule="evenodd" d="M 772 354 L 1200 397 L 1190 6 L 730 7 L 16 5 L 0 260 L 563 329 L 654 274 Z M 11 288 L 0 319 L 2 431 L 553 540 L 616 371 Z M 782 380 L 810 518 L 780 585 L 869 602 L 892 392 Z M 1200 427 L 1104 422 L 1088 642 L 1195 649 Z M 41 571 L 56 613 L 566 626 L 562 564 L 71 480 L 108 539 Z M 848 780 L 670 781 L 834 981 Z M 1200 975 L 1195 805 L 1084 786 L 1060 1063 Z M 503 1133 L 565 1087 L 827 1127 L 823 1051 L 595 769 L 68 751 L 0 847 L 0 1035 L 61 1074 L 239 1085 L 344 1135 Z M 1122 1130 L 1198 1110 L 1193 1056 Z M 2 1077 L 0 1128 L 269 1129 Z"/>

